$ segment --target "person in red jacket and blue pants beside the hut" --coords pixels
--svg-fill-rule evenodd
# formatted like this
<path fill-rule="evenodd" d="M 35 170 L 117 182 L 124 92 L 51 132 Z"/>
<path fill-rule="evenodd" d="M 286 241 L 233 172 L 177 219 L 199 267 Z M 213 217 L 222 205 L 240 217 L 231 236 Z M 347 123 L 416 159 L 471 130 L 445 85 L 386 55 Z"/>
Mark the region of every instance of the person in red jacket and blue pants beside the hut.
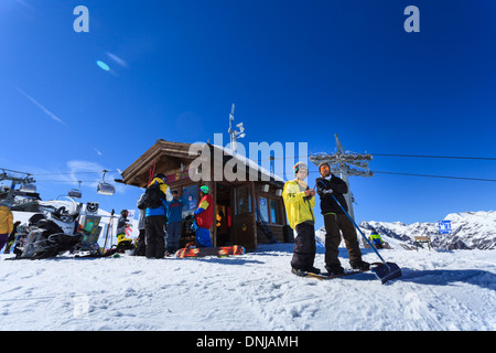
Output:
<path fill-rule="evenodd" d="M 198 208 L 194 212 L 198 228 L 195 232 L 195 240 L 197 246 L 213 247 L 211 239 L 211 227 L 214 224 L 214 199 L 208 193 L 208 186 L 200 188 Z"/>

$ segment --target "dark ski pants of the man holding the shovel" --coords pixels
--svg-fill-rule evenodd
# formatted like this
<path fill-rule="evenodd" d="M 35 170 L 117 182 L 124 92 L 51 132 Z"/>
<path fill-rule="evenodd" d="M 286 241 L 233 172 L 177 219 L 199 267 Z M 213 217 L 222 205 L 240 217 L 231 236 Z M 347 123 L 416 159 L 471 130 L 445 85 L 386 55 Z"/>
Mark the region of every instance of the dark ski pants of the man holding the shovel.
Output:
<path fill-rule="evenodd" d="M 341 264 L 337 258 L 337 255 L 339 254 L 338 246 L 341 243 L 341 232 L 343 232 L 343 239 L 345 240 L 346 249 L 349 254 L 349 260 L 362 260 L 362 252 L 355 232 L 355 226 L 352 221 L 349 221 L 347 215 L 341 213 L 328 213 L 324 215 L 324 225 L 326 265 Z"/>

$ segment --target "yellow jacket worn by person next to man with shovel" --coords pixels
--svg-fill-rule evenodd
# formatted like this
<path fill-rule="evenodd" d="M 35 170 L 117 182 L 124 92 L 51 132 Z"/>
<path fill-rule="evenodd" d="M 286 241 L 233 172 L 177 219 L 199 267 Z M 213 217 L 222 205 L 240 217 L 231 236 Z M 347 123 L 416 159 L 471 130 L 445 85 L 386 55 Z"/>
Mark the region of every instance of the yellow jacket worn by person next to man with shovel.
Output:
<path fill-rule="evenodd" d="M 315 196 L 305 197 L 306 189 L 306 183 L 295 179 L 288 181 L 282 191 L 288 222 L 293 229 L 300 223 L 306 221 L 315 222 L 315 215 L 313 213 Z"/>

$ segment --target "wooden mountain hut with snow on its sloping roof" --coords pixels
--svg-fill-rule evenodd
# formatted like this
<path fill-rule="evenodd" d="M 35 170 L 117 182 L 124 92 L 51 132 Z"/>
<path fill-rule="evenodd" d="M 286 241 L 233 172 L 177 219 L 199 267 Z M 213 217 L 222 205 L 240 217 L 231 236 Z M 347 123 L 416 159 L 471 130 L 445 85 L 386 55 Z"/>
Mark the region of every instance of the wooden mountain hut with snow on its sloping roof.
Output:
<path fill-rule="evenodd" d="M 254 250 L 260 243 L 293 239 L 282 200 L 283 180 L 248 158 L 209 143 L 159 139 L 122 172 L 120 182 L 145 188 L 155 173 L 165 174 L 171 190 L 186 200 L 183 218 L 196 210 L 200 186 L 209 188 L 216 207 L 211 228 L 214 246 L 237 244 Z"/>

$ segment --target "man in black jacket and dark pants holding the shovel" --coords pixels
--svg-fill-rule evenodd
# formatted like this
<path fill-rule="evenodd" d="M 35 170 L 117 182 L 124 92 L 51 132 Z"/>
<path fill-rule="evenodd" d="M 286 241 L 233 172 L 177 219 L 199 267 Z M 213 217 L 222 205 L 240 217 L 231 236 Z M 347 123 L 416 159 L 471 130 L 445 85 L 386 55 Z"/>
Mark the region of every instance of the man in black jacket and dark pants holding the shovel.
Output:
<path fill-rule="evenodd" d="M 362 252 L 358 245 L 358 238 L 355 227 L 348 216 L 343 212 L 334 197 L 339 202 L 343 208 L 348 211 L 346 200 L 343 196 L 348 192 L 348 185 L 341 178 L 331 173 L 330 165 L 325 162 L 319 165 L 321 178 L 315 180 L 316 192 L 321 196 L 321 211 L 324 215 L 325 226 L 325 269 L 332 275 L 344 272 L 341 266 L 338 246 L 341 234 L 345 240 L 346 249 L 349 254 L 349 265 L 353 269 L 367 270 L 370 264 L 362 260 Z M 334 195 L 332 197 L 331 195 Z"/>

